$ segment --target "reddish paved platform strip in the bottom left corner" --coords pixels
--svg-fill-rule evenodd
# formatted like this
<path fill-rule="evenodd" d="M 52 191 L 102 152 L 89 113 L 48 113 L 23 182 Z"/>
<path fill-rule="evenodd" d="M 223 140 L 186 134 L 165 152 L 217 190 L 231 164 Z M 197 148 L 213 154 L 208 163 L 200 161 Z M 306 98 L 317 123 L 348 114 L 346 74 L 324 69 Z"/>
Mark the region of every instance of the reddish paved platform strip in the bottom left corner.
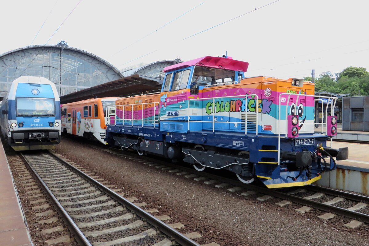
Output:
<path fill-rule="evenodd" d="M 33 246 L 13 176 L 0 143 L 0 245 Z"/>

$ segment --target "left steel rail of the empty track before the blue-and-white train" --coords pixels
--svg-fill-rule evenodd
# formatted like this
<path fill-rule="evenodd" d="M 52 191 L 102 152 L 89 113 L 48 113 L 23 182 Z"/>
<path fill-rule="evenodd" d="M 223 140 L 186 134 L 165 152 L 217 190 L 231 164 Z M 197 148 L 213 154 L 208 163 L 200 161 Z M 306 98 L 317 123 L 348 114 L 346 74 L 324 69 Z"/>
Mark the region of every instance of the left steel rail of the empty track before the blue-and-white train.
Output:
<path fill-rule="evenodd" d="M 65 211 L 60 202 L 56 199 L 54 194 L 52 194 L 51 190 L 47 187 L 45 182 L 38 175 L 37 171 L 32 167 L 31 163 L 28 161 L 27 157 L 20 153 L 25 162 L 28 164 L 34 175 L 37 177 L 38 182 L 41 184 L 42 188 L 46 191 L 46 195 L 50 198 L 51 202 L 54 204 L 54 207 L 58 211 L 58 213 L 62 216 L 63 221 L 68 225 L 70 231 L 75 235 L 75 239 L 80 245 L 92 246 L 89 240 L 85 237 L 83 232 L 78 228 L 76 223 L 70 218 L 69 214 Z"/>

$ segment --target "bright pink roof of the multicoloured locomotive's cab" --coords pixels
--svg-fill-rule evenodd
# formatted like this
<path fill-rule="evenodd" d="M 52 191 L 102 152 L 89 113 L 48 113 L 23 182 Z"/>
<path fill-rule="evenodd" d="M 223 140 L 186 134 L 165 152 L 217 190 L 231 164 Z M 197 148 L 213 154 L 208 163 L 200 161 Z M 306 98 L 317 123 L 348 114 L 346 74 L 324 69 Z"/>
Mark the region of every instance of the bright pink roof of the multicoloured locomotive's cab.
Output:
<path fill-rule="evenodd" d="M 169 72 L 172 70 L 180 69 L 183 67 L 194 66 L 194 65 L 246 72 L 247 67 L 249 66 L 249 63 L 241 62 L 239 60 L 233 60 L 231 58 L 204 56 L 204 57 L 197 58 L 194 60 L 189 60 L 188 62 L 182 62 L 182 63 L 178 63 L 175 65 L 165 67 L 164 72 Z"/>

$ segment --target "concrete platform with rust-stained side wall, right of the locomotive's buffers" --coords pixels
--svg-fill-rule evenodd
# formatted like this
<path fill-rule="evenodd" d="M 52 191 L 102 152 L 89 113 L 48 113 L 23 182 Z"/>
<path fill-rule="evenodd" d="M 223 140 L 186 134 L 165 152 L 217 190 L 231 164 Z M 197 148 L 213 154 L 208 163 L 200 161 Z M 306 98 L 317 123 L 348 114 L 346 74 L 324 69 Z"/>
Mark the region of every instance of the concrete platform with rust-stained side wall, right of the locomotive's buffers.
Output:
<path fill-rule="evenodd" d="M 369 195 L 369 143 L 332 143 L 341 147 L 349 148 L 348 159 L 337 161 L 337 169 L 323 173 L 317 184 Z"/>

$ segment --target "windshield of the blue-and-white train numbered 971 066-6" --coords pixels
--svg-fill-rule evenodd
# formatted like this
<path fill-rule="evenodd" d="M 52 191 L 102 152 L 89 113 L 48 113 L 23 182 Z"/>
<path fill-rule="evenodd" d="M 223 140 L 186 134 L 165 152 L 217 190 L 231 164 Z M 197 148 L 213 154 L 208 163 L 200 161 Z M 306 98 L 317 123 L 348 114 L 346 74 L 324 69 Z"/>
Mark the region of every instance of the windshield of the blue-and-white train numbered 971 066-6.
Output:
<path fill-rule="evenodd" d="M 55 116 L 54 98 L 17 97 L 17 116 Z"/>

